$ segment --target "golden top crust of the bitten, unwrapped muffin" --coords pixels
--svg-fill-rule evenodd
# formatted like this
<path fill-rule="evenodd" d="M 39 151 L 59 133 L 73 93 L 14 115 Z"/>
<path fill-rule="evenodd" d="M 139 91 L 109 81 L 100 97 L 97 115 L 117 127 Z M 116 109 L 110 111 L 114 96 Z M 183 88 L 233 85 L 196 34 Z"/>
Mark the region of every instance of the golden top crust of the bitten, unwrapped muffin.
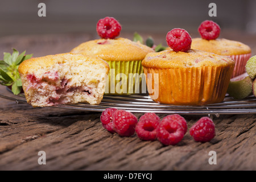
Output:
<path fill-rule="evenodd" d="M 99 64 L 100 67 L 108 68 L 109 70 L 109 64 L 106 63 L 106 61 L 100 59 L 100 57 L 96 56 L 85 56 L 75 53 L 60 53 L 56 55 L 48 55 L 43 57 L 32 57 L 31 59 L 24 60 L 19 65 L 19 73 L 20 74 L 26 74 L 28 72 L 36 71 L 40 68 L 48 68 L 52 67 L 53 64 L 61 64 L 65 61 L 90 61 L 92 64 Z M 82 64 L 81 61 L 81 64 Z"/>

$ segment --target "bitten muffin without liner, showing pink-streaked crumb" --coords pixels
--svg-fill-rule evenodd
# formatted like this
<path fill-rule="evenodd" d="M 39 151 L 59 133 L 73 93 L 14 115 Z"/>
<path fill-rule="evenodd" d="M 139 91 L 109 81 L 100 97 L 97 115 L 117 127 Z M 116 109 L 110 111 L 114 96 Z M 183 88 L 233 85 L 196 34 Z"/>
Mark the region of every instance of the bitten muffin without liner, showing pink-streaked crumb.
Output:
<path fill-rule="evenodd" d="M 109 65 L 98 57 L 62 53 L 25 60 L 18 70 L 26 100 L 34 107 L 97 105 L 105 92 Z"/>

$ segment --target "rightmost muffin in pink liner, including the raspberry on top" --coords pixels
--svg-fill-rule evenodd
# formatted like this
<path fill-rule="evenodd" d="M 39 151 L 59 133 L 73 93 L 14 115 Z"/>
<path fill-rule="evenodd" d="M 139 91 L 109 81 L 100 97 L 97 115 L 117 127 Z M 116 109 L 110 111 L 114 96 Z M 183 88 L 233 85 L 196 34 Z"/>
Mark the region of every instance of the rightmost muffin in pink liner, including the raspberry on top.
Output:
<path fill-rule="evenodd" d="M 201 38 L 192 39 L 191 48 L 216 53 L 221 56 L 230 56 L 235 61 L 232 77 L 245 73 L 245 65 L 251 56 L 251 48 L 238 41 L 220 39 L 220 27 L 217 23 L 205 20 L 199 26 Z"/>

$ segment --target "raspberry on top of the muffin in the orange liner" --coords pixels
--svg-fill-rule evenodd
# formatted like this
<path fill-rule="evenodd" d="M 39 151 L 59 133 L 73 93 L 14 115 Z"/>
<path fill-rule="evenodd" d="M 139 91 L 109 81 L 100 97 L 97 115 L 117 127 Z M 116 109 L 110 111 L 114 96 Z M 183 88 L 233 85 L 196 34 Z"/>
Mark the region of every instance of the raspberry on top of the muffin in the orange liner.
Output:
<path fill-rule="evenodd" d="M 174 28 L 166 35 L 166 42 L 175 52 L 187 52 L 191 48 L 191 36 L 182 28 Z"/>

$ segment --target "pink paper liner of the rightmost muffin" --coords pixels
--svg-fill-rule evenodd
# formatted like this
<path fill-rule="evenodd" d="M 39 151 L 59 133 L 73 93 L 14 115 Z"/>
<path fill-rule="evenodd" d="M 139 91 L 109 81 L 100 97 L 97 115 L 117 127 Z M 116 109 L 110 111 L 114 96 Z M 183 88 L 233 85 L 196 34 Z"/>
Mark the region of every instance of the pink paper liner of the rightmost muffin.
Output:
<path fill-rule="evenodd" d="M 250 59 L 251 53 L 246 53 L 242 55 L 230 55 L 230 57 L 232 57 L 236 61 L 232 78 L 245 73 L 245 65 Z"/>

